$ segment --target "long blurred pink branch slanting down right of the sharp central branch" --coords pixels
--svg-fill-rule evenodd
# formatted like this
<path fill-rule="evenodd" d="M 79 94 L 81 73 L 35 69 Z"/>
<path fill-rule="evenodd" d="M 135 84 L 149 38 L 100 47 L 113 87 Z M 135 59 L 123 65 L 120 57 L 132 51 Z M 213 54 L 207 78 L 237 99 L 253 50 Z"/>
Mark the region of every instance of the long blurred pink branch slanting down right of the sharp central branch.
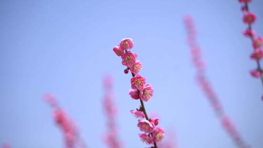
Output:
<path fill-rule="evenodd" d="M 220 103 L 219 98 L 216 95 L 210 81 L 205 76 L 206 66 L 202 58 L 202 53 L 199 45 L 196 42 L 196 29 L 194 26 L 193 19 L 190 16 L 184 18 L 184 22 L 188 31 L 187 42 L 191 51 L 192 61 L 197 69 L 196 78 L 199 86 L 206 94 L 207 99 L 212 105 L 215 113 L 220 119 L 223 128 L 228 132 L 230 137 L 233 139 L 238 148 L 248 148 L 247 144 L 242 139 L 238 130 L 235 128 L 233 122 L 230 120 L 228 115 L 223 110 L 223 106 Z"/>

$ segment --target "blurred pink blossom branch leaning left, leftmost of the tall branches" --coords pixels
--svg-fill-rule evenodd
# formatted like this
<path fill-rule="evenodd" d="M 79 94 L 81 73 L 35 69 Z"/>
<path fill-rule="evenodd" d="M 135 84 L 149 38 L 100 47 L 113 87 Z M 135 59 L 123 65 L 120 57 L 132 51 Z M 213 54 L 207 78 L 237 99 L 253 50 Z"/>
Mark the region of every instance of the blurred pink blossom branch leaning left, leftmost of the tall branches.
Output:
<path fill-rule="evenodd" d="M 56 98 L 52 94 L 45 94 L 44 100 L 52 107 L 53 117 L 56 124 L 62 129 L 65 148 L 87 148 L 75 123 L 68 117 L 67 113 L 58 105 Z"/>

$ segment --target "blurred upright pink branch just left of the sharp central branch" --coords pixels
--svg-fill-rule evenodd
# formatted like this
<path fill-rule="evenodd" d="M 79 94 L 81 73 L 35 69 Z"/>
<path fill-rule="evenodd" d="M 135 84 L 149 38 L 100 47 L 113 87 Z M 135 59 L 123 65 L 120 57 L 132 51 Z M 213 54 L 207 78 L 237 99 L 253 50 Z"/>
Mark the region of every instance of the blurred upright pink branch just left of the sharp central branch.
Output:
<path fill-rule="evenodd" d="M 108 148 L 124 148 L 122 142 L 118 138 L 118 130 L 116 125 L 116 107 L 114 106 L 113 97 L 113 80 L 110 75 L 105 75 L 104 80 L 105 95 L 102 100 L 102 105 L 107 118 L 107 131 L 103 138 Z"/>

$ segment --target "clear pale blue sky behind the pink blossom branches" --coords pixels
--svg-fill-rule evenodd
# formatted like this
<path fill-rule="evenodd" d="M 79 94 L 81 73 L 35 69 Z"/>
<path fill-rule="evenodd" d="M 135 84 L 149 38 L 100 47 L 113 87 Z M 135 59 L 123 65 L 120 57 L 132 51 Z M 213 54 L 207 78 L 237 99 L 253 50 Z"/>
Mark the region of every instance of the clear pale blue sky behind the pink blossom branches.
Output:
<path fill-rule="evenodd" d="M 144 148 L 139 102 L 128 95 L 131 75 L 112 51 L 132 37 L 141 74 L 154 87 L 148 111 L 176 131 L 179 148 L 234 148 L 194 80 L 182 21 L 191 14 L 207 62 L 207 76 L 244 139 L 263 148 L 262 86 L 248 71 L 251 42 L 243 37 L 238 0 L 1 0 L 0 143 L 13 148 L 62 148 L 45 92 L 54 93 L 90 148 L 104 148 L 102 75 L 114 78 L 120 137 L 126 148 Z M 263 1 L 253 0 L 253 25 L 263 35 Z"/>

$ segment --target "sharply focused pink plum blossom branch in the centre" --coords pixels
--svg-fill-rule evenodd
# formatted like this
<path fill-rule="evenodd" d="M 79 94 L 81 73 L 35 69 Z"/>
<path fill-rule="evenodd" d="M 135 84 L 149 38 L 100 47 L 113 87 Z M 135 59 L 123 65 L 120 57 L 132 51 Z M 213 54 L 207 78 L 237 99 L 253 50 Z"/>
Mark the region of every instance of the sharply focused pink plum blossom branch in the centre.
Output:
<path fill-rule="evenodd" d="M 138 120 L 137 127 L 144 133 L 139 133 L 139 137 L 146 144 L 152 145 L 150 148 L 157 148 L 157 142 L 164 138 L 164 129 L 156 127 L 159 118 L 149 118 L 145 109 L 144 101 L 149 101 L 153 94 L 153 89 L 150 83 L 146 83 L 146 78 L 138 74 L 142 69 L 142 63 L 136 60 L 137 54 L 129 51 L 133 47 L 131 38 L 124 38 L 118 46 L 113 48 L 117 56 L 121 56 L 122 65 L 127 66 L 124 70 L 125 74 L 131 71 L 131 90 L 129 94 L 131 98 L 140 100 L 140 107 L 136 110 L 131 110 L 135 117 L 142 118 Z"/>

